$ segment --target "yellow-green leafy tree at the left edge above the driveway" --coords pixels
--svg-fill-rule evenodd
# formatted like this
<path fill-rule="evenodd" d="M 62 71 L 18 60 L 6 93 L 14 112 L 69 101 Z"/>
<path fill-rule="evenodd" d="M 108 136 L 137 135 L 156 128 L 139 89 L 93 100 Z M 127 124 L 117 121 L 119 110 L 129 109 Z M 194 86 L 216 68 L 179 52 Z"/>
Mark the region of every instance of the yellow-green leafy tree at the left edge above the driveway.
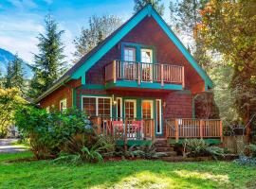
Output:
<path fill-rule="evenodd" d="M 6 136 L 9 126 L 14 124 L 14 112 L 24 103 L 26 101 L 17 88 L 0 88 L 0 137 Z"/>

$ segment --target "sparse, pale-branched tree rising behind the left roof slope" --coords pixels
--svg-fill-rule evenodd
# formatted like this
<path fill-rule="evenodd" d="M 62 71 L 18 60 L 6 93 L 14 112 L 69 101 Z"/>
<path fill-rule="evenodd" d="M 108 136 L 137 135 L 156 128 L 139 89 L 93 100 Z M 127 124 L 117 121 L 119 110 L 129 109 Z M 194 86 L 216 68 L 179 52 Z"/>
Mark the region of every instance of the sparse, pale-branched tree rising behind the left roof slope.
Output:
<path fill-rule="evenodd" d="M 97 44 L 101 43 L 115 31 L 121 23 L 119 17 L 113 15 L 103 15 L 101 17 L 94 15 L 90 17 L 88 28 L 82 27 L 81 35 L 74 40 L 76 46 L 74 56 L 76 60 L 81 59 L 83 55 L 88 53 Z"/>

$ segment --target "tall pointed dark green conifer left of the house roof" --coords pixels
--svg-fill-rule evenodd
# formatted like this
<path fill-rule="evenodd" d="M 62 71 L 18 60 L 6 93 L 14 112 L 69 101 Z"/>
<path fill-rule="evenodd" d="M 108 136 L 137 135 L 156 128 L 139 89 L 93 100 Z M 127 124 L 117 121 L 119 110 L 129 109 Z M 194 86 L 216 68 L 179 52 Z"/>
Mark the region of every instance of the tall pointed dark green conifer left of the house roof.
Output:
<path fill-rule="evenodd" d="M 37 97 L 45 92 L 54 81 L 64 74 L 64 30 L 59 30 L 58 23 L 51 15 L 46 15 L 46 34 L 39 34 L 39 54 L 34 55 L 35 64 L 32 66 L 34 77 L 31 80 L 31 97 Z"/>

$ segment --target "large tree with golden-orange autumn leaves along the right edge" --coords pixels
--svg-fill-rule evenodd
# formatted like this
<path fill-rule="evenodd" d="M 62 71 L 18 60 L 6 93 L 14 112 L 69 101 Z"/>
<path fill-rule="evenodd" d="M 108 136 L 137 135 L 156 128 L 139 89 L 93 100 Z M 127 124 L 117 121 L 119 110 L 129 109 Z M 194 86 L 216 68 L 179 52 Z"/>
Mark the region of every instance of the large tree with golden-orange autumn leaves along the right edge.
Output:
<path fill-rule="evenodd" d="M 245 124 L 256 112 L 255 9 L 253 0 L 211 0 L 201 11 L 203 22 L 197 26 L 208 46 L 232 66 L 229 87 Z M 247 142 L 250 133 L 251 125 L 247 127 Z"/>

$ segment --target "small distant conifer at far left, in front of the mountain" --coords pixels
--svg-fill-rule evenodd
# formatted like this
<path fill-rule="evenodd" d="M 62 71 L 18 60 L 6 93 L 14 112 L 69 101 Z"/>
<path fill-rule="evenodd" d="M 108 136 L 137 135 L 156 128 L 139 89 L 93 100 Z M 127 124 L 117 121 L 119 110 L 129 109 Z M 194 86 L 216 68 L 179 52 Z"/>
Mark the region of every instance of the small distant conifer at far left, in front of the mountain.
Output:
<path fill-rule="evenodd" d="M 23 60 L 16 54 L 14 60 L 9 61 L 5 88 L 17 88 L 25 93 L 25 78 Z"/>

